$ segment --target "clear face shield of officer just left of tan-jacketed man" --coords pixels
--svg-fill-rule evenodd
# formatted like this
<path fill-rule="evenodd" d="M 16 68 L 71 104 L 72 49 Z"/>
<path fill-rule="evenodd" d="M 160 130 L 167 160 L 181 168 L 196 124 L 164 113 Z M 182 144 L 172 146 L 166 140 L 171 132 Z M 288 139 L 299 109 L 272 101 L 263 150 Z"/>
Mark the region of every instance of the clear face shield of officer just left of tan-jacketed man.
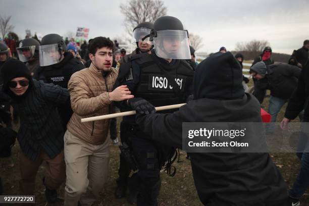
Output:
<path fill-rule="evenodd" d="M 39 46 L 39 60 L 41 67 L 57 64 L 61 59 L 61 49 L 59 49 L 57 43 Z"/>

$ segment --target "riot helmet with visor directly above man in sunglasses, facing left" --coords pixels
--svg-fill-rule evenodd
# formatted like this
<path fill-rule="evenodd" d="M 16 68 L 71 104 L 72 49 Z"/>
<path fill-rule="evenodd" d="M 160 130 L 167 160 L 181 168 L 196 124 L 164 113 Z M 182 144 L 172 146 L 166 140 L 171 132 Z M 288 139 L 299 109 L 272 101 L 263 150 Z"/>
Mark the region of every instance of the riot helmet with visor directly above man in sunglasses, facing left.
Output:
<path fill-rule="evenodd" d="M 40 43 L 34 38 L 26 38 L 16 48 L 19 60 L 28 62 L 32 57 L 38 57 Z"/>

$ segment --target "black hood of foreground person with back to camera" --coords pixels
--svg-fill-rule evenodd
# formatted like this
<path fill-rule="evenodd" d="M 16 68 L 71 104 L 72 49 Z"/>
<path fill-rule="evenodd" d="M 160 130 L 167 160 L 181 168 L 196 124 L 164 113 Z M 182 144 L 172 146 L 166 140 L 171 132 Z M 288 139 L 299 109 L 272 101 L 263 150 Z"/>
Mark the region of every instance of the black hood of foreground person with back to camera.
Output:
<path fill-rule="evenodd" d="M 242 70 L 230 52 L 217 52 L 200 62 L 194 73 L 194 99 L 240 99 L 244 95 Z"/>

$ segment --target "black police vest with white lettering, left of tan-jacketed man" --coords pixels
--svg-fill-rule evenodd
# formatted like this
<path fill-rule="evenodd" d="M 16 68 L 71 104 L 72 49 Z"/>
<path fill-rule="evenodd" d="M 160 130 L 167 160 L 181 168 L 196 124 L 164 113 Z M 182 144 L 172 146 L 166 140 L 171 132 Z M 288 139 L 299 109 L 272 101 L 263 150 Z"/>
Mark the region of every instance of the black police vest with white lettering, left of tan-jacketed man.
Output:
<path fill-rule="evenodd" d="M 68 88 L 68 82 L 73 73 L 73 66 L 71 68 L 53 68 L 47 66 L 44 68 L 44 76 L 47 83 L 53 83 L 63 88 Z"/>

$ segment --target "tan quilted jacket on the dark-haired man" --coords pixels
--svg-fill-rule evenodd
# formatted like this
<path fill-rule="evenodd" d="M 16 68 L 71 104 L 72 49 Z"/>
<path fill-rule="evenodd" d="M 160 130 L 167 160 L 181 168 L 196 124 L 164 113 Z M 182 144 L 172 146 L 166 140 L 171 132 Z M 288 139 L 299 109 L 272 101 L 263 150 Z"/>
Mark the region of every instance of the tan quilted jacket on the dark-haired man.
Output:
<path fill-rule="evenodd" d="M 74 113 L 67 129 L 74 136 L 91 144 L 101 144 L 106 141 L 109 120 L 81 123 L 81 119 L 114 113 L 108 91 L 112 91 L 117 76 L 118 70 L 112 68 L 104 78 L 101 71 L 93 64 L 71 76 L 68 89 Z"/>

